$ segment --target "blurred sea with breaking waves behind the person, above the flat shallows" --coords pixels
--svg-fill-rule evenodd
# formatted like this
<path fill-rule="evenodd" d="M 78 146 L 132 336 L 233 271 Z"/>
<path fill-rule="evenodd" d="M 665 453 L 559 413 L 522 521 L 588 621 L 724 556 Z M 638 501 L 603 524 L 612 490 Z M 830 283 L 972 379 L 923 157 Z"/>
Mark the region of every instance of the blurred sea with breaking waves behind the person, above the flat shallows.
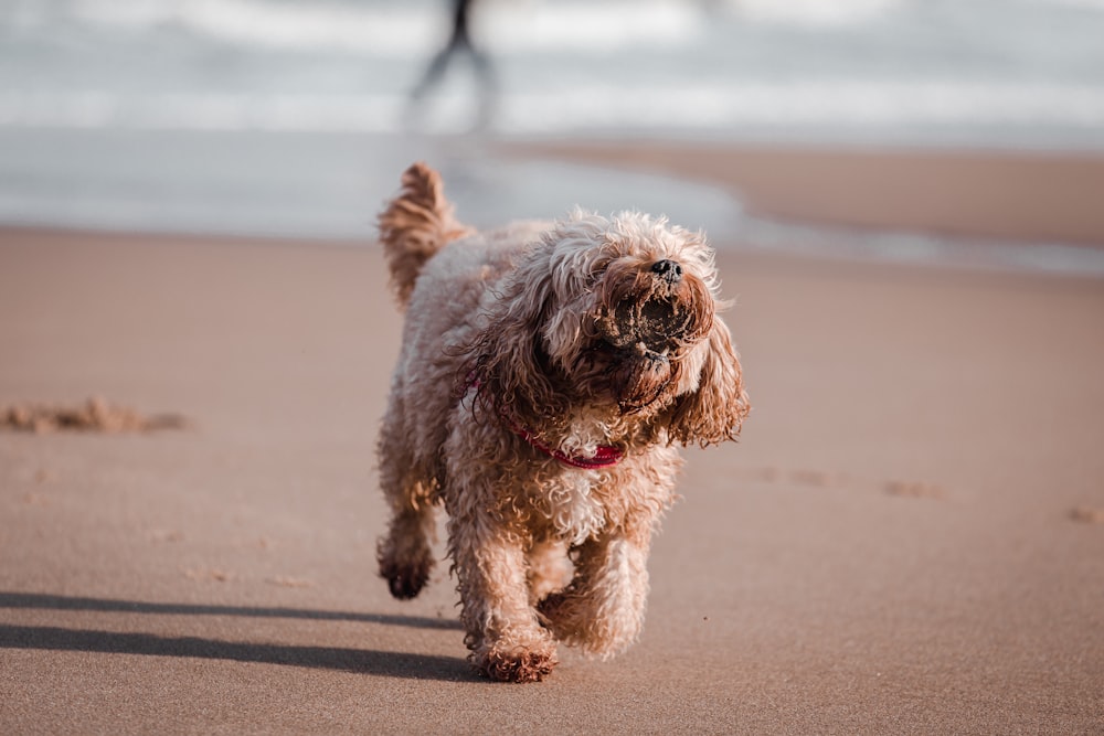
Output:
<path fill-rule="evenodd" d="M 0 125 L 402 131 L 443 0 L 0 0 Z M 1104 146 L 1104 0 L 482 0 L 493 129 Z M 470 127 L 456 64 L 431 132 Z"/>

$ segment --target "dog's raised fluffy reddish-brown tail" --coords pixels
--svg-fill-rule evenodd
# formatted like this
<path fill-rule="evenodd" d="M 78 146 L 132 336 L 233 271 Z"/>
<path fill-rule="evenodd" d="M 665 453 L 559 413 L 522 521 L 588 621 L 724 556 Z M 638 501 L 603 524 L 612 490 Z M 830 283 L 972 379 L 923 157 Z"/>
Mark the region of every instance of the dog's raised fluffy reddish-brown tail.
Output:
<path fill-rule="evenodd" d="M 410 301 L 422 267 L 446 243 L 474 231 L 453 216 L 440 174 L 418 161 L 403 172 L 403 188 L 380 215 L 380 241 L 401 307 Z"/>

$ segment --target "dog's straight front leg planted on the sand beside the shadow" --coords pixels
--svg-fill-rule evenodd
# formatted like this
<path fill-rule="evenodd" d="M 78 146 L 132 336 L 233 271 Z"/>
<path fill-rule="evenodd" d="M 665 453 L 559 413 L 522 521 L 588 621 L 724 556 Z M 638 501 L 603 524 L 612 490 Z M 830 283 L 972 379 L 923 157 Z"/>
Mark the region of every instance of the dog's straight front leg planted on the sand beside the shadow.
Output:
<path fill-rule="evenodd" d="M 480 511 L 452 518 L 448 532 L 476 671 L 503 682 L 543 679 L 558 662 L 555 642 L 529 602 L 522 542 Z"/>

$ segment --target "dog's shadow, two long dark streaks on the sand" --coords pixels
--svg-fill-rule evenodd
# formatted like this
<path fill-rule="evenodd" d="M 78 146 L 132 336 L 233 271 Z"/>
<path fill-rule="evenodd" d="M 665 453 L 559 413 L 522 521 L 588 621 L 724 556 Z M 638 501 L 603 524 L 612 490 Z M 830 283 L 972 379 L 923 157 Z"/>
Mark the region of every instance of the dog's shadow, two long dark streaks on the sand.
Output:
<path fill-rule="evenodd" d="M 188 604 L 153 604 L 129 600 L 79 598 L 28 593 L 0 593 L 0 608 L 52 609 L 67 611 L 116 611 L 184 616 L 246 616 L 258 618 L 293 618 L 321 621 L 364 621 L 388 626 L 423 629 L 458 629 L 456 621 L 425 617 L 386 616 L 322 611 L 299 608 L 253 608 L 238 606 L 203 606 Z M 323 670 L 341 670 L 362 674 L 413 680 L 467 680 L 473 675 L 467 663 L 456 657 L 412 654 L 372 649 L 341 647 L 307 647 L 278 643 L 254 643 L 205 639 L 201 637 L 161 637 L 52 626 L 13 626 L 0 623 L 0 649 L 39 649 L 83 651 L 110 654 L 146 654 L 150 657 L 189 657 L 287 664 Z"/>

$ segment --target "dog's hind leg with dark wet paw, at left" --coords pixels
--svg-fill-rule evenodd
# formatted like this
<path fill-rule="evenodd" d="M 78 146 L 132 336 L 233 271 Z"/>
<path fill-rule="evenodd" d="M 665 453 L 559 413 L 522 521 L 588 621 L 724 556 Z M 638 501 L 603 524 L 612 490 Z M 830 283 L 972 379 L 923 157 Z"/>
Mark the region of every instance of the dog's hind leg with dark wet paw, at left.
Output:
<path fill-rule="evenodd" d="M 391 506 L 388 533 L 380 540 L 380 575 L 395 598 L 413 598 L 429 579 L 434 558 L 433 481 L 421 478 L 401 431 L 401 402 L 393 401 L 380 435 L 380 486 Z"/>

